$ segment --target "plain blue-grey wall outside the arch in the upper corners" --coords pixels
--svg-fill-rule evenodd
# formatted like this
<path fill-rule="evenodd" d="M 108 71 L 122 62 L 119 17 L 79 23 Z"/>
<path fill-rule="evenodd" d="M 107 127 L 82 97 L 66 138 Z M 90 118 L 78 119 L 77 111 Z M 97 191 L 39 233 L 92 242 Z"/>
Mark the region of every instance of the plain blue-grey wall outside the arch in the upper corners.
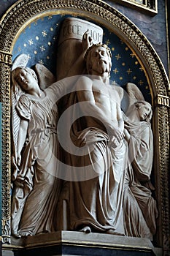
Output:
<path fill-rule="evenodd" d="M 0 0 L 0 18 L 16 1 L 17 0 Z M 165 1 L 158 1 L 158 14 L 154 16 L 136 11 L 131 7 L 123 6 L 123 3 L 117 3 L 117 1 L 105 0 L 105 2 L 129 18 L 142 31 L 153 48 L 157 51 L 168 73 L 169 56 L 167 51 Z M 167 0 L 167 2 L 169 4 L 169 0 Z"/>

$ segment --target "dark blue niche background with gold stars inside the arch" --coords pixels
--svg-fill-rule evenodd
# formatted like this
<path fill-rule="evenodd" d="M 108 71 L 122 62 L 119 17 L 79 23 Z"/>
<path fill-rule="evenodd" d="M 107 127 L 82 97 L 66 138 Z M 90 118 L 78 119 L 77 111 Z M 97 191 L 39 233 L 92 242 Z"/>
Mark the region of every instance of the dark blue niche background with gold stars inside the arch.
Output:
<path fill-rule="evenodd" d="M 41 63 L 55 75 L 58 30 L 61 21 L 67 17 L 72 17 L 72 15 L 47 16 L 29 24 L 15 43 L 12 60 L 14 61 L 21 53 L 26 53 L 29 56 L 28 67 Z M 93 22 L 89 19 L 88 21 Z M 135 54 L 119 37 L 106 28 L 103 27 L 103 29 L 103 42 L 112 50 L 112 83 L 117 83 L 122 87 L 128 82 L 135 83 L 143 92 L 145 99 L 150 102 L 151 97 L 147 79 Z"/>

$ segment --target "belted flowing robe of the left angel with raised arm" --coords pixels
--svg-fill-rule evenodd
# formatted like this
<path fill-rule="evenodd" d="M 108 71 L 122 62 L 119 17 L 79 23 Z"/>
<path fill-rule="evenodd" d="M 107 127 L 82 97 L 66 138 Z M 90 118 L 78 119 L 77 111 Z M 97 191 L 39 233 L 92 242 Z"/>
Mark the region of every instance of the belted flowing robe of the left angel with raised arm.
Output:
<path fill-rule="evenodd" d="M 16 106 L 28 121 L 28 137 L 12 198 L 12 227 L 34 235 L 56 230 L 55 215 L 61 181 L 58 179 L 58 107 L 63 83 L 54 83 L 43 97 L 23 94 Z"/>

